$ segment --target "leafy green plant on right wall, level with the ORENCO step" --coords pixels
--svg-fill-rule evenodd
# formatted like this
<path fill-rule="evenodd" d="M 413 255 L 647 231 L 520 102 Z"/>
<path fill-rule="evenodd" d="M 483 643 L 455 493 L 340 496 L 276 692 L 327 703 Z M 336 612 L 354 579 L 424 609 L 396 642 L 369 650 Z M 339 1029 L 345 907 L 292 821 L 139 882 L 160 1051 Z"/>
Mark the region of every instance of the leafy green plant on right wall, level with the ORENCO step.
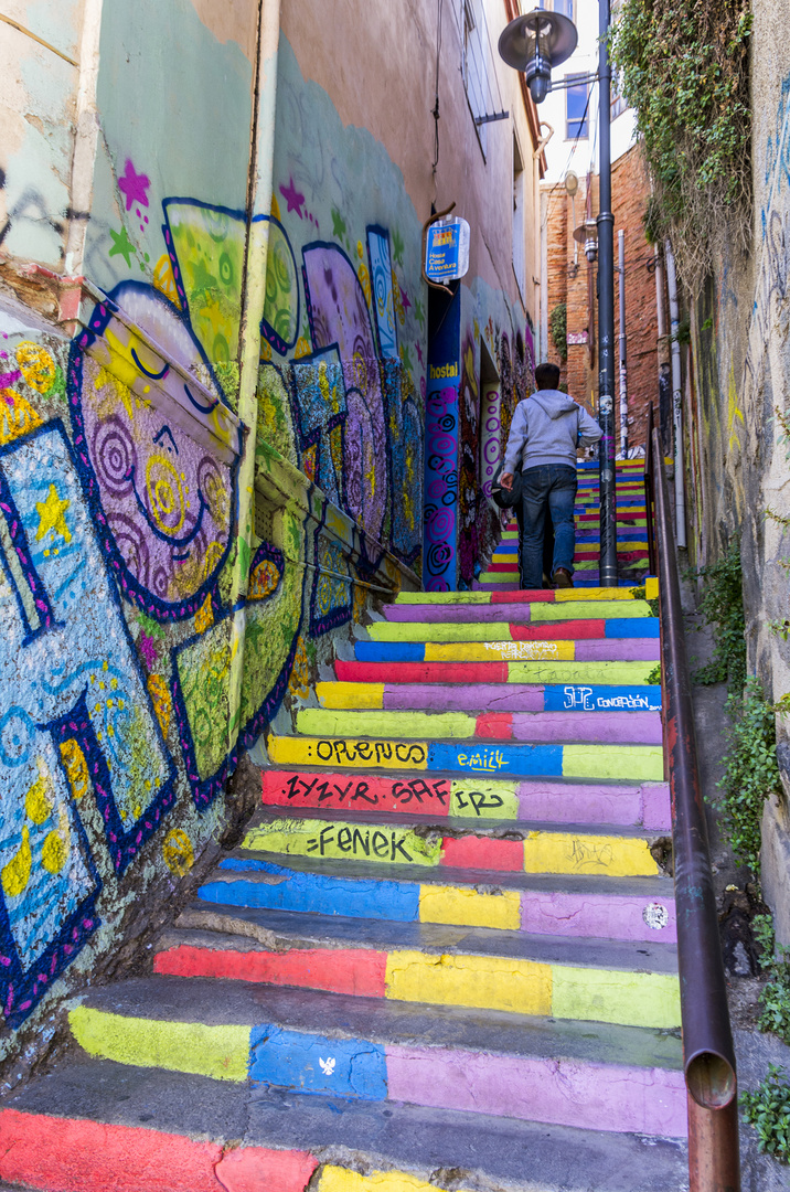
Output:
<path fill-rule="evenodd" d="M 775 706 L 765 700 L 759 679 L 752 676 L 742 693 L 732 691 L 727 696 L 724 710 L 729 720 L 724 731 L 728 752 L 723 759 L 724 775 L 719 782 L 723 794 L 716 802 L 724 813 L 722 827 L 735 859 L 759 876 L 763 803 L 782 789 Z"/>

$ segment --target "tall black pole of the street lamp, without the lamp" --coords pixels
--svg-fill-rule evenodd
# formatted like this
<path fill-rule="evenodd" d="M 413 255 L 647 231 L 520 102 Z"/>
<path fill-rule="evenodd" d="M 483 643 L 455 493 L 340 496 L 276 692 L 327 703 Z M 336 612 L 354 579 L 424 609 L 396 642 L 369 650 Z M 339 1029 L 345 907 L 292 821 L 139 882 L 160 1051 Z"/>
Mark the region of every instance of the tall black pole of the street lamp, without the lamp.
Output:
<path fill-rule="evenodd" d="M 598 6 L 598 120 L 601 141 L 601 201 L 598 225 L 598 422 L 601 572 L 602 588 L 617 586 L 617 522 L 615 515 L 615 217 L 611 213 L 611 129 L 609 66 L 609 0 Z"/>

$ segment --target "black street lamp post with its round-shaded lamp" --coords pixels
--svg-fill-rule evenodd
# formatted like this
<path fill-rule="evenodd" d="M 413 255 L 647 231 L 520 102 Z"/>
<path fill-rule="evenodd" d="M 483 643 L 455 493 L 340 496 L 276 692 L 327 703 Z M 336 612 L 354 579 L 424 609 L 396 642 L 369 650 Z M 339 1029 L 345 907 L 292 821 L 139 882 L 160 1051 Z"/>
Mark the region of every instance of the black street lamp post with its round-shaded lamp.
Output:
<path fill-rule="evenodd" d="M 598 422 L 603 432 L 598 448 L 601 497 L 601 563 L 602 588 L 617 586 L 617 523 L 615 510 L 615 217 L 611 213 L 611 139 L 609 63 L 610 0 L 598 4 L 598 137 L 599 137 L 599 213 L 596 219 L 597 243 L 592 229 L 585 224 L 577 229 L 577 240 L 584 243 L 589 261 L 598 256 Z M 499 38 L 499 55 L 516 70 L 523 70 L 529 92 L 536 104 L 549 91 L 564 83 L 552 83 L 552 67 L 573 54 L 578 35 L 573 21 L 561 13 L 536 8 L 525 17 L 516 17 Z M 574 77 L 573 83 L 592 81 Z M 567 86 L 567 85 L 565 85 Z"/>

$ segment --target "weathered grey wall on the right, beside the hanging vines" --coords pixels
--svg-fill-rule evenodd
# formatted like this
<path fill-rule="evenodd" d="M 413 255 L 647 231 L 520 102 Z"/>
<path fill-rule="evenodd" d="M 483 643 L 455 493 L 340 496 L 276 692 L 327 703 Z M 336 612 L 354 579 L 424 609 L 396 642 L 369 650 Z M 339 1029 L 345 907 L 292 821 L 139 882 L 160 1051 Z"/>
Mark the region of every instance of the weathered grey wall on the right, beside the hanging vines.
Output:
<path fill-rule="evenodd" d="M 692 386 L 684 395 L 689 540 L 699 563 L 739 541 L 749 670 L 769 699 L 790 690 L 790 647 L 772 629 L 789 615 L 786 530 L 767 516 L 789 511 L 790 74 L 776 30 L 786 5 L 755 2 L 752 35 L 754 213 L 752 250 L 726 244 L 691 311 Z M 726 240 L 726 237 L 724 237 Z M 778 937 L 790 943 L 790 734 L 777 721 L 785 796 L 766 807 L 763 881 Z"/>

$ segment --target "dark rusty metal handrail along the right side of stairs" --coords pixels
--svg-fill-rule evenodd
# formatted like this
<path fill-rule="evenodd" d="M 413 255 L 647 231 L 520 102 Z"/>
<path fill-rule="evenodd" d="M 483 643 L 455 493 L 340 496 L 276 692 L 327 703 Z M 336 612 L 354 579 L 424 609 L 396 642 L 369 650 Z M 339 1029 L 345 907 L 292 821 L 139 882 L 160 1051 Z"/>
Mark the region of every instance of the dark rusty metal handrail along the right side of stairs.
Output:
<path fill-rule="evenodd" d="M 672 796 L 674 901 L 689 1100 L 691 1192 L 739 1192 L 738 1080 L 699 787 L 680 581 L 659 433 L 652 437 L 658 530 L 664 732 Z M 648 471 L 648 470 L 646 470 Z M 649 471 L 648 471 L 649 474 Z"/>

